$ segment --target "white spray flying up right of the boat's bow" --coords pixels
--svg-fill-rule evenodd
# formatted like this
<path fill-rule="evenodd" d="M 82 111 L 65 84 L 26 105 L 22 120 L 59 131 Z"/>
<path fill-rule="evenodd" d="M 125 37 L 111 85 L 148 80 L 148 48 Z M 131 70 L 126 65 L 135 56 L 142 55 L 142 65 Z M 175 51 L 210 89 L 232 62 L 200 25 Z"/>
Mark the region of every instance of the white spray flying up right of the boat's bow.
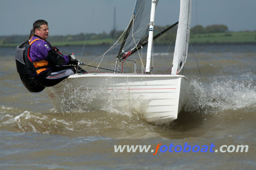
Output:
<path fill-rule="evenodd" d="M 213 80 L 207 85 L 192 81 L 185 111 L 225 111 L 256 107 L 256 87 L 251 79 Z"/>

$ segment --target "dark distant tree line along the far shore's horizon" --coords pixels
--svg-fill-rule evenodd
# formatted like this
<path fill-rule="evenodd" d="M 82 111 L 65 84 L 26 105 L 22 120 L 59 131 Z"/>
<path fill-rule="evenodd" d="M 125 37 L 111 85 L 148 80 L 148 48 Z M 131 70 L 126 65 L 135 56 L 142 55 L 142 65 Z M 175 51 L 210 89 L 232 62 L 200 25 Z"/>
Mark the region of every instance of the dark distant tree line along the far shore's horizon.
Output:
<path fill-rule="evenodd" d="M 168 26 L 155 26 L 155 32 L 154 34 L 159 33 L 160 31 L 163 31 Z M 228 28 L 224 25 L 211 25 L 207 27 L 203 26 L 195 26 L 191 28 L 191 34 L 205 34 L 205 33 L 220 33 L 220 32 L 227 32 Z M 166 32 L 162 37 L 158 38 L 155 42 L 156 43 L 163 43 L 168 41 L 173 41 L 177 32 L 177 26 L 175 28 L 172 28 L 170 31 Z M 110 31 L 109 34 L 106 32 L 102 32 L 100 34 L 84 34 L 80 33 L 77 35 L 56 35 L 56 36 L 49 36 L 47 40 L 49 42 L 73 42 L 73 41 L 84 41 L 86 40 L 103 40 L 103 39 L 115 39 L 117 40 L 121 35 L 123 31 Z M 0 45 L 3 44 L 19 44 L 23 41 L 28 40 L 29 35 L 11 35 L 11 36 L 0 36 Z M 121 39 L 122 40 L 122 39 Z"/>

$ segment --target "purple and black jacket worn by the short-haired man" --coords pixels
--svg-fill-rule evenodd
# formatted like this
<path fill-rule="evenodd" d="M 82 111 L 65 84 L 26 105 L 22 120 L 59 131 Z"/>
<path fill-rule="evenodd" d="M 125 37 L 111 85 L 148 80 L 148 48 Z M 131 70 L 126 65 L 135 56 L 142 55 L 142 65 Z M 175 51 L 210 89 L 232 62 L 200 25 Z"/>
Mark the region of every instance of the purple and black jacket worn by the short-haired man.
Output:
<path fill-rule="evenodd" d="M 36 40 L 35 42 L 33 42 L 30 46 L 30 50 L 29 50 L 29 57 L 32 60 L 32 62 L 40 62 L 42 60 L 48 61 L 49 64 L 51 65 L 51 67 L 47 68 L 45 71 L 41 72 L 40 74 L 43 74 L 49 70 L 51 70 L 52 68 L 54 68 L 56 65 L 67 65 L 69 63 L 69 58 L 66 55 L 62 55 L 60 57 L 59 54 L 57 54 L 57 52 L 55 52 L 52 49 L 52 46 L 49 44 L 49 42 L 47 42 L 46 40 L 41 39 L 38 36 L 34 36 L 32 37 L 32 40 L 35 39 L 40 39 L 40 40 Z M 51 50 L 51 51 L 50 51 Z M 49 52 L 50 51 L 50 52 Z M 52 55 L 54 54 L 54 55 Z M 59 55 L 59 56 L 58 56 Z M 56 57 L 58 56 L 58 57 Z M 60 63 L 56 63 L 56 62 L 51 62 L 52 60 L 49 60 L 49 58 L 51 57 L 55 57 L 54 61 L 58 59 L 61 59 L 61 64 Z M 64 58 L 64 59 L 63 59 Z"/>

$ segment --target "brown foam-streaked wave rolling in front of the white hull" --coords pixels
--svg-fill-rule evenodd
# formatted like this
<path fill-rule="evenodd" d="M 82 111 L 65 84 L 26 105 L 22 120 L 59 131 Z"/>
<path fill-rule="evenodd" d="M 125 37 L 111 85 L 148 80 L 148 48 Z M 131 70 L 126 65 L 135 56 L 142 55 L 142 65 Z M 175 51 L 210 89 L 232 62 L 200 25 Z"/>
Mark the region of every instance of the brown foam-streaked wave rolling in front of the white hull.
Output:
<path fill-rule="evenodd" d="M 10 113 L 12 110 L 15 113 Z M 157 136 L 154 129 L 138 115 L 127 116 L 106 111 L 85 113 L 39 113 L 2 106 L 0 129 L 61 136 L 109 136 L 143 138 Z"/>

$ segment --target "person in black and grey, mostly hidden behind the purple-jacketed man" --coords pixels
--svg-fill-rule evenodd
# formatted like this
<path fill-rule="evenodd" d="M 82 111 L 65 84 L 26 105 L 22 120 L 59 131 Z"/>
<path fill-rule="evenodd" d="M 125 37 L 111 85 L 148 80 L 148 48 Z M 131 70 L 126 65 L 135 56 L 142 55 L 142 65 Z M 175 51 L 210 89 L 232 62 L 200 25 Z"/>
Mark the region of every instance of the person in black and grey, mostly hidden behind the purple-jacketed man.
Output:
<path fill-rule="evenodd" d="M 45 87 L 40 85 L 35 79 L 35 77 L 31 77 L 29 75 L 29 72 L 27 71 L 25 60 L 24 60 L 25 46 L 32 39 L 33 35 L 34 35 L 34 30 L 32 29 L 30 31 L 29 40 L 24 41 L 17 46 L 15 51 L 15 61 L 16 61 L 17 72 L 20 75 L 22 84 L 28 89 L 28 91 L 36 93 L 44 90 Z"/>

